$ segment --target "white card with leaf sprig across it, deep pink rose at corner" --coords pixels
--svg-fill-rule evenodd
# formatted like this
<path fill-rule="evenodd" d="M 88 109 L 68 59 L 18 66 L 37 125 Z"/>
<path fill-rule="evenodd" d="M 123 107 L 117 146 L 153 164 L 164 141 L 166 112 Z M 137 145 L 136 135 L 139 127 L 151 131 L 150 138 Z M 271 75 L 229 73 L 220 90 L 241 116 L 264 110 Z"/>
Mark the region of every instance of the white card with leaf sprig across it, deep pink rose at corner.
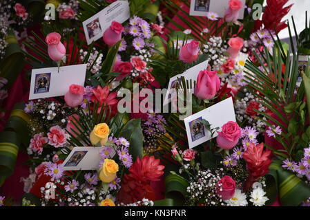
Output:
<path fill-rule="evenodd" d="M 204 124 L 199 121 L 202 119 L 207 120 L 211 124 L 211 129 L 219 127 L 220 130 L 217 131 L 222 131 L 224 124 L 229 121 L 235 122 L 233 98 L 227 98 L 184 119 L 189 148 L 207 142 L 218 135 L 215 132 L 213 137 L 211 137 L 211 132 L 206 130 Z"/>

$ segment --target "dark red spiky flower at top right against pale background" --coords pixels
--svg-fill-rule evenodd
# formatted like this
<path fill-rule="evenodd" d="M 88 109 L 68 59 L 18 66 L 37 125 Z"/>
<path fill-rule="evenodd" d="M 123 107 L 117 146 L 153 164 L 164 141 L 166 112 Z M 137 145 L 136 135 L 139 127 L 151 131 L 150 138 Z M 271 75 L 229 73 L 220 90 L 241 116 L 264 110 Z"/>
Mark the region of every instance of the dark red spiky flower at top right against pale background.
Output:
<path fill-rule="evenodd" d="M 282 21 L 283 17 L 289 13 L 293 4 L 284 7 L 289 0 L 267 0 L 267 6 L 265 7 L 262 21 L 256 21 L 256 28 L 264 28 L 268 30 L 276 30 L 277 34 L 287 28 L 286 21 Z M 259 27 L 258 27 L 259 26 Z"/>

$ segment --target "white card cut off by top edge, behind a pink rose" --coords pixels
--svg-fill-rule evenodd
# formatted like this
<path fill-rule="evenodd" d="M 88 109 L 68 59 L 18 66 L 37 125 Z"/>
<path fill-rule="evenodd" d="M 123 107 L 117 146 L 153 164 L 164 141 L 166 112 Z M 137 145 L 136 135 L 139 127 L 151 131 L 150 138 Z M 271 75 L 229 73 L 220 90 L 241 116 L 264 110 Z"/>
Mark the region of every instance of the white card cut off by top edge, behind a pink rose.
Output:
<path fill-rule="evenodd" d="M 243 3 L 242 10 L 240 10 L 239 19 L 244 18 L 244 5 L 245 0 L 241 0 Z M 229 0 L 191 0 L 190 15 L 206 17 L 207 12 L 215 12 L 220 18 L 223 18 L 226 10 L 229 8 Z"/>

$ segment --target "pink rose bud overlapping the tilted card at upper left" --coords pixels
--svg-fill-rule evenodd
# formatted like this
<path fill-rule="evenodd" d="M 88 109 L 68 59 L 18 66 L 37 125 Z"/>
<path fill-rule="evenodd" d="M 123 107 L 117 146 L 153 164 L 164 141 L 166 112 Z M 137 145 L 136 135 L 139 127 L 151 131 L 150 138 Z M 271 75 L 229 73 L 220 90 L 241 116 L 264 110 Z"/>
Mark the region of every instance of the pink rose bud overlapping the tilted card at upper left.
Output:
<path fill-rule="evenodd" d="M 104 43 L 109 46 L 115 45 L 115 43 L 122 39 L 123 30 L 124 27 L 121 23 L 118 23 L 117 21 L 112 21 L 110 28 L 108 28 L 104 32 Z"/>

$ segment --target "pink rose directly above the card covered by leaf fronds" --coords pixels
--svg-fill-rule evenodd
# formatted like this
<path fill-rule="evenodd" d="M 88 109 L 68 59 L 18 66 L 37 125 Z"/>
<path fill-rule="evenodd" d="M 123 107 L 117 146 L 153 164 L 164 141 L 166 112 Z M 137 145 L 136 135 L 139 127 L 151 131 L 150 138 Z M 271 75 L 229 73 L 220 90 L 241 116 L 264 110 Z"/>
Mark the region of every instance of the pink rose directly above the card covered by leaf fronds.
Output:
<path fill-rule="evenodd" d="M 199 41 L 191 41 L 184 45 L 179 53 L 179 58 L 184 63 L 192 63 L 197 60 L 199 53 Z"/>

